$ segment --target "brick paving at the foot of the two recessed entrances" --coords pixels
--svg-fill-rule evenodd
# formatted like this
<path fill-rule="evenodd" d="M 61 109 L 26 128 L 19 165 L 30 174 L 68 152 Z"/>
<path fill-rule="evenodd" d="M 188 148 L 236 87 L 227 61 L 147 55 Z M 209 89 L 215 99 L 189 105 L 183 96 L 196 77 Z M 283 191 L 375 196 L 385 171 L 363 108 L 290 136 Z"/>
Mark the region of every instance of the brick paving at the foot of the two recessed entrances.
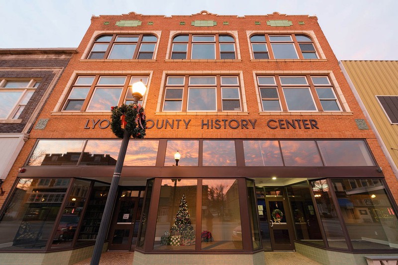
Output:
<path fill-rule="evenodd" d="M 270 265 L 320 265 L 319 263 L 297 252 L 264 252 L 265 262 Z M 100 265 L 132 265 L 134 252 L 103 253 Z M 75 265 L 90 265 L 91 258 L 75 263 Z"/>

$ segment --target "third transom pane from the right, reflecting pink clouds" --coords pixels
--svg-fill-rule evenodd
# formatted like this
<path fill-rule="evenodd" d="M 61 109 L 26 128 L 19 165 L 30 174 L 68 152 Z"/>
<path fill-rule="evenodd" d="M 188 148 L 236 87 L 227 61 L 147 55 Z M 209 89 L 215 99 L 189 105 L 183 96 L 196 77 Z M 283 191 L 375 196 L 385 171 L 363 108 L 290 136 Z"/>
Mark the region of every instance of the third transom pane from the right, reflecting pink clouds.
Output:
<path fill-rule="evenodd" d="M 277 140 L 244 140 L 246 166 L 283 166 Z"/>

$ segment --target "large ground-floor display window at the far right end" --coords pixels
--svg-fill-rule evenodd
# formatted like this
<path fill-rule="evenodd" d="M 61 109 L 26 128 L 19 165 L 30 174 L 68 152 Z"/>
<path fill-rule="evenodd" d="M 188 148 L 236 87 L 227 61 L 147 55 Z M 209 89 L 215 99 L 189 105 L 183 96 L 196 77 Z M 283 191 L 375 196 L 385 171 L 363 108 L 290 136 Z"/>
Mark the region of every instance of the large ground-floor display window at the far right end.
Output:
<path fill-rule="evenodd" d="M 354 249 L 397 249 L 398 221 L 380 179 L 332 179 Z"/>

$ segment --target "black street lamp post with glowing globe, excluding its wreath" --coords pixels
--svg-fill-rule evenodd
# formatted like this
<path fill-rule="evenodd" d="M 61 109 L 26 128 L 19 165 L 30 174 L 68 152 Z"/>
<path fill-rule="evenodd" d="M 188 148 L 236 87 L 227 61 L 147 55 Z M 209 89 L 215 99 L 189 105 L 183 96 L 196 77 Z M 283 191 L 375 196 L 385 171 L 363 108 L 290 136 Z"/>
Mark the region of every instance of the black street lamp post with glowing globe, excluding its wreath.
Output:
<path fill-rule="evenodd" d="M 130 86 L 129 86 L 130 88 Z M 138 101 L 142 98 L 146 91 L 145 85 L 142 81 L 132 84 L 132 94 L 134 97 L 133 105 L 137 105 Z M 108 198 L 106 199 L 105 208 L 103 210 L 102 219 L 100 223 L 100 230 L 98 231 L 98 236 L 96 240 L 96 245 L 94 247 L 93 257 L 91 259 L 91 265 L 98 265 L 100 263 L 103 243 L 105 241 L 106 233 L 108 231 L 110 217 L 112 215 L 113 205 L 116 200 L 117 188 L 119 185 L 119 179 L 121 175 L 121 170 L 123 168 L 124 158 L 126 156 L 128 141 L 130 139 L 131 133 L 127 130 L 123 130 L 123 139 L 121 141 L 119 155 L 115 165 L 115 171 L 113 173 L 112 182 L 110 184 Z"/>

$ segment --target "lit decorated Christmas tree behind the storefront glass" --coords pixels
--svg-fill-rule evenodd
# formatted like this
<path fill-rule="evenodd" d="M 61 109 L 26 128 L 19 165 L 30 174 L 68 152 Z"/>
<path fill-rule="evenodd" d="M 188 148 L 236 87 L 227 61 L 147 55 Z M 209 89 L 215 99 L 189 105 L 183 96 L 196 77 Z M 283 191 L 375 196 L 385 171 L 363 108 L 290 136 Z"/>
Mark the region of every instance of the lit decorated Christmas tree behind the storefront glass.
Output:
<path fill-rule="evenodd" d="M 191 224 L 191 216 L 188 211 L 185 195 L 181 198 L 180 207 L 178 208 L 176 218 L 174 218 L 174 224 L 170 231 L 174 235 L 181 233 L 182 235 L 194 236 L 194 227 Z"/>

